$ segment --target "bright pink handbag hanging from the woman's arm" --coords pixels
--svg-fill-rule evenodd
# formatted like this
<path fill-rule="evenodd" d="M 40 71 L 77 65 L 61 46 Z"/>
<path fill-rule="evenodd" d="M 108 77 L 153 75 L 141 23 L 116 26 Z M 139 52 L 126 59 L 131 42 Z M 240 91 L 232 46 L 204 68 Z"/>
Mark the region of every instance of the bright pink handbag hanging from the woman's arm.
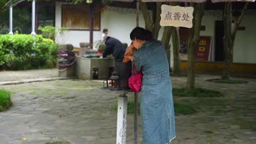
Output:
<path fill-rule="evenodd" d="M 132 66 L 132 76 L 129 78 L 128 83 L 132 92 L 141 91 L 142 71 L 139 71 L 139 73 L 137 73 L 134 63 Z"/>

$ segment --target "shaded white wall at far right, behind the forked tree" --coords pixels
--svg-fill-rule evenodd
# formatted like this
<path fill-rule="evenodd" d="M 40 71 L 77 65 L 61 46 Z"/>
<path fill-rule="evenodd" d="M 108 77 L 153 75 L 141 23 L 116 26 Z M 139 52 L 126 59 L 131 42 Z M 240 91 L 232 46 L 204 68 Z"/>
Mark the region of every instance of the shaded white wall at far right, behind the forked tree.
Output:
<path fill-rule="evenodd" d="M 214 61 L 214 28 L 215 21 L 222 20 L 214 16 L 203 16 L 202 26 L 206 26 L 206 31 L 201 31 L 200 35 L 211 36 L 211 61 Z M 233 51 L 234 63 L 256 63 L 256 16 L 246 15 L 240 24 L 245 27 L 245 31 L 237 31 Z"/>

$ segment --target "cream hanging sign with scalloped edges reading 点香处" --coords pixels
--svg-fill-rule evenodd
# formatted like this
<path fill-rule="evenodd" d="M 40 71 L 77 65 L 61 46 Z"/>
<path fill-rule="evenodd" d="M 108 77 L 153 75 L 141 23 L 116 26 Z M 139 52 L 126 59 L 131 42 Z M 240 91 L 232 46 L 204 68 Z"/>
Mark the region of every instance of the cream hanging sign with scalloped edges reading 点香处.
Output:
<path fill-rule="evenodd" d="M 188 27 L 193 26 L 193 7 L 179 7 L 163 4 L 161 6 L 160 26 Z"/>

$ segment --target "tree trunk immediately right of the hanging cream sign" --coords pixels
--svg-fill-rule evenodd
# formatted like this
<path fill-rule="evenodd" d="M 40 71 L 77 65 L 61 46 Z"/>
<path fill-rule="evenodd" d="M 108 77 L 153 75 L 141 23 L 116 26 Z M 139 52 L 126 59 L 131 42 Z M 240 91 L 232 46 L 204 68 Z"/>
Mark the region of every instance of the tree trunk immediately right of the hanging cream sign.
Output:
<path fill-rule="evenodd" d="M 191 3 L 191 6 L 194 6 Z M 188 42 L 188 76 L 187 76 L 187 91 L 193 91 L 195 88 L 195 52 L 199 43 L 199 34 L 202 21 L 203 10 L 205 10 L 205 3 L 197 3 L 194 8 L 193 27 L 189 29 Z"/>

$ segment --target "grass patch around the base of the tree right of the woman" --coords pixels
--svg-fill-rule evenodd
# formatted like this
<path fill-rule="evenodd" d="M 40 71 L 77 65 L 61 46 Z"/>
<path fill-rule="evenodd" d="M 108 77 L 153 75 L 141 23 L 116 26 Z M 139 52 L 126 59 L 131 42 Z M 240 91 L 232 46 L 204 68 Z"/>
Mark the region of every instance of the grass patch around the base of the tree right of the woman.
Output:
<path fill-rule="evenodd" d="M 195 88 L 188 92 L 185 88 L 172 88 L 172 94 L 176 97 L 222 97 L 223 94 L 206 88 Z"/>

